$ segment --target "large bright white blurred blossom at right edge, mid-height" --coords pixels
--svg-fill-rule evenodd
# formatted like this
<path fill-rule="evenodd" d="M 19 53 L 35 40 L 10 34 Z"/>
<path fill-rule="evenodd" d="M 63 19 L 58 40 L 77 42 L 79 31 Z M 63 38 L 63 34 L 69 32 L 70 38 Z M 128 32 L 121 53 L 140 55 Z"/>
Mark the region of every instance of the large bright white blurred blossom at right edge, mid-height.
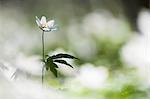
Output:
<path fill-rule="evenodd" d="M 150 40 L 149 40 L 150 41 Z M 122 49 L 122 58 L 129 65 L 142 67 L 150 65 L 150 52 L 148 51 L 146 37 L 135 35 Z"/>

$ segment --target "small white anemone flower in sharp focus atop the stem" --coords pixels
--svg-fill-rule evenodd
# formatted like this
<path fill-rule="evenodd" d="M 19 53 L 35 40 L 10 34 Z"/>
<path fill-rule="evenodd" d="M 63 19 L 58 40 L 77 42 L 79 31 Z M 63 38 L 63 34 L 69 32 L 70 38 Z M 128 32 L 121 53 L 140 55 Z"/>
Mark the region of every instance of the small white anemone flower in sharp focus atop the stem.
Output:
<path fill-rule="evenodd" d="M 39 26 L 39 28 L 41 30 L 43 30 L 44 32 L 50 32 L 50 31 L 57 30 L 57 27 L 55 25 L 55 21 L 50 20 L 50 21 L 46 22 L 45 16 L 42 16 L 41 20 L 36 16 L 36 23 Z"/>

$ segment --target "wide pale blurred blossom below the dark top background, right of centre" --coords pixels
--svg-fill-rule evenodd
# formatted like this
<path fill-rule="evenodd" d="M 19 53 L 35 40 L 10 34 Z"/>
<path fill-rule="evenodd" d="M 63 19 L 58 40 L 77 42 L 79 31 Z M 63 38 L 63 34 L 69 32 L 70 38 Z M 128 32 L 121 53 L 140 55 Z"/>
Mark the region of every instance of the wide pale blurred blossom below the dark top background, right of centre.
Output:
<path fill-rule="evenodd" d="M 116 18 L 105 10 L 87 14 L 81 27 L 85 33 L 94 34 L 100 39 L 109 38 L 115 42 L 126 39 L 130 34 L 129 26 L 122 17 Z"/>

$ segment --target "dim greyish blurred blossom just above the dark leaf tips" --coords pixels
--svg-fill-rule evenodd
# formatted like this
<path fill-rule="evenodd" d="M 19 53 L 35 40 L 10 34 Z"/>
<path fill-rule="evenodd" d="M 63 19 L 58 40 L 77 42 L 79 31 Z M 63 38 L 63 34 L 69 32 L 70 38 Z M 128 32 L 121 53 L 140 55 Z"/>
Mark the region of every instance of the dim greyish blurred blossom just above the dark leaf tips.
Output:
<path fill-rule="evenodd" d="M 97 46 L 91 36 L 87 35 L 87 32 L 84 33 L 81 28 L 81 25 L 78 23 L 70 23 L 68 27 L 70 46 L 79 57 L 91 60 L 97 54 Z"/>

